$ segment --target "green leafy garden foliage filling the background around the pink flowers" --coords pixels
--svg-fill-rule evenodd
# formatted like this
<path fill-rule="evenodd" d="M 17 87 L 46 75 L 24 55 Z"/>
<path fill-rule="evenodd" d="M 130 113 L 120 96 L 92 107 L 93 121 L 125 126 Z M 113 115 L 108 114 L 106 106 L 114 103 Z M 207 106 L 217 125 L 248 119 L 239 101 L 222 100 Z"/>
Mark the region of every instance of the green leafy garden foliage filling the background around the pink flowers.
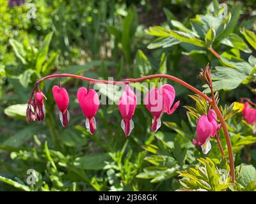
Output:
<path fill-rule="evenodd" d="M 219 3 L 227 4 L 226 18 L 219 17 Z M 28 16 L 33 5 L 35 18 Z M 11 7 L 4 0 L 0 11 L 0 190 L 255 191 L 255 132 L 233 104 L 255 98 L 254 1 L 26 0 Z M 150 113 L 138 105 L 134 131 L 125 138 L 117 106 L 102 105 L 91 136 L 76 99 L 87 84 L 70 79 L 61 82 L 70 94 L 68 128 L 54 107 L 51 87 L 58 80 L 40 85 L 45 121 L 26 123 L 33 84 L 50 73 L 115 80 L 167 73 L 204 90 L 196 76 L 208 62 L 230 131 L 236 186 L 222 177 L 229 167 L 216 140 L 207 157 L 191 142 L 207 104 L 172 82 L 181 105 L 163 117 L 157 133 L 150 132 Z M 119 98 L 99 86 L 100 94 Z M 221 131 L 227 156 L 224 138 Z M 35 170 L 34 185 L 29 169 Z"/>

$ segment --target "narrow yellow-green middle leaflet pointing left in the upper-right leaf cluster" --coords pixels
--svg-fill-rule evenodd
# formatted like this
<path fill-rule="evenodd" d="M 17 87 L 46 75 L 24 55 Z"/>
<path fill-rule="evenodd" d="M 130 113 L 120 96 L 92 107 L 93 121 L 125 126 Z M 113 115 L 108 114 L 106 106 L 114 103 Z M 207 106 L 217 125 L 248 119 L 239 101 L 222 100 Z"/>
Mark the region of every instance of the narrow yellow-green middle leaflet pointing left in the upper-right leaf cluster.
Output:
<path fill-rule="evenodd" d="M 177 38 L 180 41 L 183 41 L 185 43 L 190 43 L 193 45 L 196 45 L 198 47 L 205 47 L 205 43 L 202 40 L 198 40 L 191 34 L 182 32 L 182 31 L 170 31 L 170 34 L 172 34 L 173 38 Z"/>

